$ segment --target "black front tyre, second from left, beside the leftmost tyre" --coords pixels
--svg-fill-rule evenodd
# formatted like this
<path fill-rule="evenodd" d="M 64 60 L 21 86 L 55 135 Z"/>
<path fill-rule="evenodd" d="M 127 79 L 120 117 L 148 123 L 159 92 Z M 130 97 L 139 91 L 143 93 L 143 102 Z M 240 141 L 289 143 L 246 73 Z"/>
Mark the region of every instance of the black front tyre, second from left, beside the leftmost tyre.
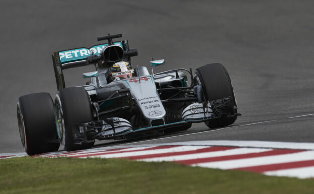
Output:
<path fill-rule="evenodd" d="M 84 88 L 61 89 L 55 99 L 56 131 L 61 145 L 67 151 L 90 148 L 94 142 L 75 144 L 76 123 L 93 121 L 93 109 L 90 97 Z"/>

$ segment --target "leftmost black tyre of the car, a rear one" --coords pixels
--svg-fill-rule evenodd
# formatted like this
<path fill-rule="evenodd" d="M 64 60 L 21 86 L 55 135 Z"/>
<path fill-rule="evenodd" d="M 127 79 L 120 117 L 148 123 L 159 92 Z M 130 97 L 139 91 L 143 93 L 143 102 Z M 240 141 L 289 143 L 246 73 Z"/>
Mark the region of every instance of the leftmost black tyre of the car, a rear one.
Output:
<path fill-rule="evenodd" d="M 49 93 L 21 96 L 17 103 L 21 142 L 28 155 L 59 149 L 54 124 L 53 100 Z M 54 141 L 53 141 L 54 140 Z"/>

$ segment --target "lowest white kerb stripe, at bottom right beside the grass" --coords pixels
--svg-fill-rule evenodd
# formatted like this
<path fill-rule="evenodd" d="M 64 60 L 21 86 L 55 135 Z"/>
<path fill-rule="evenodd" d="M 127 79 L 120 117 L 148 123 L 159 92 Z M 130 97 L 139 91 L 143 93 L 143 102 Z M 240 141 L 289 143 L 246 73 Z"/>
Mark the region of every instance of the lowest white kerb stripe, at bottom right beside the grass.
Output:
<path fill-rule="evenodd" d="M 270 176 L 288 176 L 288 177 L 298 177 L 298 178 L 313 178 L 314 177 L 314 166 L 302 167 L 302 168 L 292 168 L 285 170 L 275 170 L 263 173 Z"/>

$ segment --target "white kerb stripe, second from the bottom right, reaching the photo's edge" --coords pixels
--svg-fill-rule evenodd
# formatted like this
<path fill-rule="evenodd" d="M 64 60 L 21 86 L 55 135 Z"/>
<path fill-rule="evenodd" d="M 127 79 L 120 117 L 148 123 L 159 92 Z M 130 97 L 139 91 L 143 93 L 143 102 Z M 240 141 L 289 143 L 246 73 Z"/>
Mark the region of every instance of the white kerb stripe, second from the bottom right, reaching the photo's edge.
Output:
<path fill-rule="evenodd" d="M 279 164 L 286 162 L 297 162 L 303 160 L 314 160 L 314 151 L 304 151 L 294 154 L 281 154 L 275 156 L 262 156 L 248 159 L 236 159 L 219 162 L 207 162 L 193 164 L 192 166 L 200 166 L 206 168 L 233 169 L 251 166 L 260 166 L 268 164 Z"/>

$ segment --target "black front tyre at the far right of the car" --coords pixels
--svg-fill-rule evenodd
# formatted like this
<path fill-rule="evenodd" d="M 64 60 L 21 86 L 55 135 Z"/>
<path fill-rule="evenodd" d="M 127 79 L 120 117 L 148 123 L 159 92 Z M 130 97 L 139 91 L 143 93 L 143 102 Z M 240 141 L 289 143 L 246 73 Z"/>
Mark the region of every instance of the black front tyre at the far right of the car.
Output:
<path fill-rule="evenodd" d="M 234 96 L 230 76 L 222 64 L 213 63 L 197 68 L 194 75 L 194 84 L 202 86 L 206 101 L 219 102 L 223 98 L 231 98 L 231 101 L 223 107 L 223 112 L 227 114 L 205 122 L 209 128 L 228 126 L 237 120 L 237 115 L 235 115 L 237 113 L 236 97 Z M 227 117 L 228 115 L 234 116 Z"/>

